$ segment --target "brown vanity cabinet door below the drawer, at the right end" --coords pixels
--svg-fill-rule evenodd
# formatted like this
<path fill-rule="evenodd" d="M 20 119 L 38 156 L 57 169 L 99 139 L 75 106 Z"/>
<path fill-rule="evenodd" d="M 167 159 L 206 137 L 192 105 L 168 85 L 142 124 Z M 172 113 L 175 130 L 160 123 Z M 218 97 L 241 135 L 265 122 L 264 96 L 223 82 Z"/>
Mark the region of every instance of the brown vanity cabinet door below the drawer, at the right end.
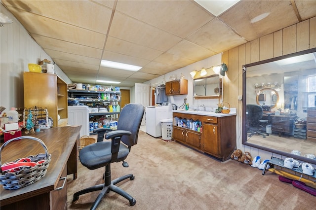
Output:
<path fill-rule="evenodd" d="M 218 155 L 218 127 L 213 124 L 203 124 L 203 151 Z"/>

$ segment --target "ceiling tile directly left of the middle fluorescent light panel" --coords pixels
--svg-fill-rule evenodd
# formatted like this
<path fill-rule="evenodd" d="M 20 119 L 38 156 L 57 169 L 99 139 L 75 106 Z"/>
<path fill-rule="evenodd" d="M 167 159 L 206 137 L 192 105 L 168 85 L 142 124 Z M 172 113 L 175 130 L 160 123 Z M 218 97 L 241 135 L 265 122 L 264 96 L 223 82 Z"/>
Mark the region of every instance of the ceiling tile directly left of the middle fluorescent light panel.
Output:
<path fill-rule="evenodd" d="M 91 64 L 91 65 L 100 65 L 101 60 L 96 58 L 91 58 L 87 56 L 75 55 L 71 53 L 60 52 L 56 50 L 46 49 L 45 52 L 50 55 L 53 60 L 61 59 L 66 61 L 73 61 L 77 63 Z"/>

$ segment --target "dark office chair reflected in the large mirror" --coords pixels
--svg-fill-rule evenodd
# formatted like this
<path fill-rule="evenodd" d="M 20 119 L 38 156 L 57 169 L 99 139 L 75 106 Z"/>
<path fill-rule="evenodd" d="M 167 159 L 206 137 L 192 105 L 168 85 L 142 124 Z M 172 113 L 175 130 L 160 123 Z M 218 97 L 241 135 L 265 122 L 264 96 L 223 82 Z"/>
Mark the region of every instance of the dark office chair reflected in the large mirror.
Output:
<path fill-rule="evenodd" d="M 252 137 L 255 134 L 261 135 L 263 138 L 266 138 L 266 135 L 269 134 L 262 133 L 261 128 L 268 124 L 268 120 L 263 120 L 263 109 L 260 105 L 246 105 L 247 113 L 247 133 L 250 133 L 248 137 Z"/>

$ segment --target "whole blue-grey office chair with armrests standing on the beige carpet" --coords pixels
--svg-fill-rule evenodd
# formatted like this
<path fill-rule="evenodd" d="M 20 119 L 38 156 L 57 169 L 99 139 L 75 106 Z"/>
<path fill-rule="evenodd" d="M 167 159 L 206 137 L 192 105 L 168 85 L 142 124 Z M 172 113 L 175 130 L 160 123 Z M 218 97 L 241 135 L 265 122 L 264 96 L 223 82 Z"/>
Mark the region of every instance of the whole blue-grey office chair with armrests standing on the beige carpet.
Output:
<path fill-rule="evenodd" d="M 81 149 L 79 158 L 83 166 L 90 170 L 105 166 L 104 184 L 95 185 L 76 192 L 73 201 L 77 201 L 79 195 L 102 190 L 91 207 L 91 210 L 94 210 L 97 208 L 104 195 L 111 190 L 126 198 L 131 206 L 136 204 L 136 200 L 131 195 L 115 186 L 115 184 L 127 178 L 133 180 L 135 178 L 134 175 L 124 175 L 112 180 L 111 163 L 125 160 L 130 152 L 131 146 L 137 144 L 138 132 L 144 111 L 145 108 L 141 104 L 125 105 L 119 114 L 118 130 L 99 130 L 102 132 L 104 131 L 105 139 L 111 139 L 111 141 L 103 141 L 103 137 L 101 141 L 100 137 L 96 143 L 87 145 Z"/>

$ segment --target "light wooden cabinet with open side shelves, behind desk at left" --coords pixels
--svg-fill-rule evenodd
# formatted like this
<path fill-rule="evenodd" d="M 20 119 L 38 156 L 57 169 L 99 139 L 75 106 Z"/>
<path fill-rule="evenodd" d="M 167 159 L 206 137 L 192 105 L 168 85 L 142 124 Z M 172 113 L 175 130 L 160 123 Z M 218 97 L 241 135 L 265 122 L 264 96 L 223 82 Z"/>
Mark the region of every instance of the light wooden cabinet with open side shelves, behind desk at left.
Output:
<path fill-rule="evenodd" d="M 24 72 L 24 107 L 34 106 L 47 107 L 48 116 L 53 119 L 53 127 L 66 126 L 67 83 L 56 74 Z"/>

